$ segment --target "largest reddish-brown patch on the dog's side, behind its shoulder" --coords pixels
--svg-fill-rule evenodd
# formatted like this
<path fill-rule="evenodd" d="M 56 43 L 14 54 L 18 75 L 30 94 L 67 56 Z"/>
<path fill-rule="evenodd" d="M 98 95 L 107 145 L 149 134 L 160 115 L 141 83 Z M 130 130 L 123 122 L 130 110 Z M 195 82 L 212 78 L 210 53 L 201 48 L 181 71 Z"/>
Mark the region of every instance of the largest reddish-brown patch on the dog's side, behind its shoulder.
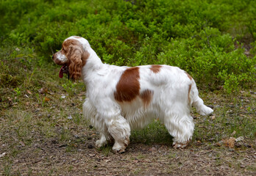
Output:
<path fill-rule="evenodd" d="M 139 67 L 130 67 L 124 70 L 114 92 L 115 100 L 119 102 L 132 101 L 140 93 Z"/>

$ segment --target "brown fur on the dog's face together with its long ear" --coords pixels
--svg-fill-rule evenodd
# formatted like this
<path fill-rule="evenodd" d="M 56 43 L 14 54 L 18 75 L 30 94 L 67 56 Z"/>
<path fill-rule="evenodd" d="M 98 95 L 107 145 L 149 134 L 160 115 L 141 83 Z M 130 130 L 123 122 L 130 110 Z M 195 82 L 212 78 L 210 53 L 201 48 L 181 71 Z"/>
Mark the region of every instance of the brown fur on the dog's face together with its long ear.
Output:
<path fill-rule="evenodd" d="M 76 80 L 81 77 L 82 67 L 90 56 L 88 51 L 82 48 L 82 44 L 77 40 L 65 40 L 61 51 L 68 58 L 68 73 L 71 79 Z"/>

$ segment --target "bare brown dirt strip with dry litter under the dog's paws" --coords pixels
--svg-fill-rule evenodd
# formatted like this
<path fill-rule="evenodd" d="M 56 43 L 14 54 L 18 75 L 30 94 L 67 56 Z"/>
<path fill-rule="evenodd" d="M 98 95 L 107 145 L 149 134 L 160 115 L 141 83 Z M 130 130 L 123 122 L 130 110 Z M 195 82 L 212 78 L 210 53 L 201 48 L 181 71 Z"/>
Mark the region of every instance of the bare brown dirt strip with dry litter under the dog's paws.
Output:
<path fill-rule="evenodd" d="M 20 146 L 10 164 L 12 175 L 256 175 L 256 150 L 229 149 L 200 144 L 174 150 L 166 144 L 129 145 L 124 154 L 94 148 L 96 139 L 84 137 L 77 144 L 55 139 Z M 74 146 L 72 146 L 74 145 Z M 4 167 L 4 168 L 3 168 Z M 1 161 L 3 175 L 7 165 Z"/>

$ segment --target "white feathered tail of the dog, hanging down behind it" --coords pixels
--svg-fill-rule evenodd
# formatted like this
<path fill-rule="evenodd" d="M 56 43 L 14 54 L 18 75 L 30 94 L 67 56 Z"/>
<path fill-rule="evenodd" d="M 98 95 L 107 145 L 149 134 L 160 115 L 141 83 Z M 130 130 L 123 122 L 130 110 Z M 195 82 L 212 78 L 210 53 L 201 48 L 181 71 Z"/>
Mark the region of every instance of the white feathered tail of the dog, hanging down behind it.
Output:
<path fill-rule="evenodd" d="M 196 111 L 201 115 L 209 115 L 213 113 L 213 109 L 205 106 L 204 101 L 199 98 L 199 92 L 196 88 L 196 83 L 191 78 L 191 85 L 190 85 L 190 91 L 188 92 L 188 100 L 190 101 L 190 104 L 196 108 Z"/>

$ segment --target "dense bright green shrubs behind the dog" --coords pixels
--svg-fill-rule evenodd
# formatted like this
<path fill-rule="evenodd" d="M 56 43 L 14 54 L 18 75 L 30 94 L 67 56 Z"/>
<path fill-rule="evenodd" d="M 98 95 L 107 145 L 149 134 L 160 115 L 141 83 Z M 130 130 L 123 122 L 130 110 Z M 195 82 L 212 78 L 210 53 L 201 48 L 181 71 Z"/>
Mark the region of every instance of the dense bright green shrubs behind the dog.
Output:
<path fill-rule="evenodd" d="M 255 85 L 255 4 L 255 0 L 1 1 L 0 34 L 2 41 L 35 48 L 38 65 L 43 59 L 51 62 L 51 54 L 66 37 L 79 35 L 108 64 L 174 65 L 202 87 L 223 86 L 231 93 Z M 249 56 L 244 48 L 252 48 Z"/>

